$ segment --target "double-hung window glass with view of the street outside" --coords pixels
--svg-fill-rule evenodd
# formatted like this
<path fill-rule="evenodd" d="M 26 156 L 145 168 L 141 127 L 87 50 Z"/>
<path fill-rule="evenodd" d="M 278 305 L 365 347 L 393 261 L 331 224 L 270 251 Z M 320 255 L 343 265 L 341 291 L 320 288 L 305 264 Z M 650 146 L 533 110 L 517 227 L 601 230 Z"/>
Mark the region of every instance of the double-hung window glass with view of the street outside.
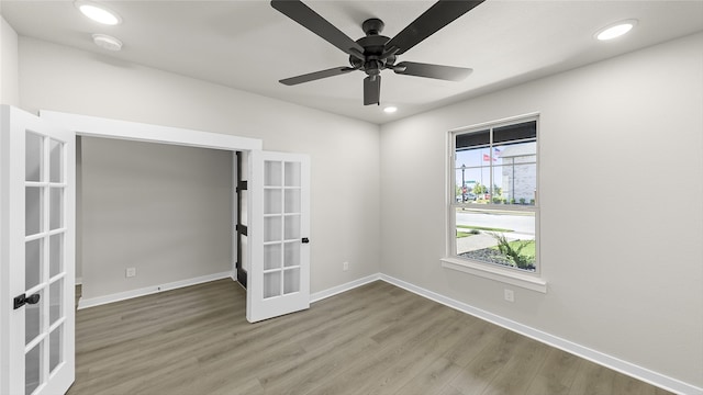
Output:
<path fill-rule="evenodd" d="M 538 270 L 537 117 L 451 132 L 450 256 Z"/>

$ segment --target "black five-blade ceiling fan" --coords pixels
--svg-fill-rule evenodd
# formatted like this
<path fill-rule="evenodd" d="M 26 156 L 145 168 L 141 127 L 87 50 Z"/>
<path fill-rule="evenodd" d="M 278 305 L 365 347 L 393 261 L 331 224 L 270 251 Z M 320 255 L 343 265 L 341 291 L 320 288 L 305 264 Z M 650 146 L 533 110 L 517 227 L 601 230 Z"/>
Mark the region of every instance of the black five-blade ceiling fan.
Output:
<path fill-rule="evenodd" d="M 293 86 L 361 70 L 367 74 L 364 79 L 364 105 L 369 105 L 380 104 L 381 71 L 384 69 L 391 69 L 395 74 L 404 76 L 460 81 L 471 74 L 472 70 L 470 68 L 415 61 L 397 64 L 395 60 L 399 55 L 402 55 L 483 1 L 439 0 L 393 38 L 380 35 L 384 26 L 383 21 L 372 18 L 361 24 L 361 30 L 364 30 L 366 36 L 355 42 L 300 0 L 271 0 L 271 7 L 276 10 L 348 54 L 350 64 L 350 66 L 334 67 L 286 78 L 279 82 Z"/>

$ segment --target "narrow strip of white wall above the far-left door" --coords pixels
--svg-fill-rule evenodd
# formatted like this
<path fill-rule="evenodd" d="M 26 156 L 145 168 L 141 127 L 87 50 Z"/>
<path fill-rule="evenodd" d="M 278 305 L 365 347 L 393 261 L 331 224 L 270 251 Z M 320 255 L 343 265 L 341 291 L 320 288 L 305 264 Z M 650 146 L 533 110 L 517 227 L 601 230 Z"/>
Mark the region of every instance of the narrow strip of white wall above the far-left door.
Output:
<path fill-rule="evenodd" d="M 18 34 L 0 15 L 0 104 L 20 104 L 18 71 Z"/>

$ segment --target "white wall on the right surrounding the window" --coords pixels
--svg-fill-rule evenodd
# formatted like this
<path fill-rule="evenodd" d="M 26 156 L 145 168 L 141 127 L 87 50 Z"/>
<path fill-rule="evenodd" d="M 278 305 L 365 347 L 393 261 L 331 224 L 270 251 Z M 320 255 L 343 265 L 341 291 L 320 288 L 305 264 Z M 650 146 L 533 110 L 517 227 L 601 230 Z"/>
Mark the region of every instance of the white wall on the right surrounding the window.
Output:
<path fill-rule="evenodd" d="M 381 271 L 703 387 L 703 34 L 383 125 Z M 443 269 L 446 134 L 540 113 L 548 293 Z M 403 199 L 398 199 L 398 191 Z"/>

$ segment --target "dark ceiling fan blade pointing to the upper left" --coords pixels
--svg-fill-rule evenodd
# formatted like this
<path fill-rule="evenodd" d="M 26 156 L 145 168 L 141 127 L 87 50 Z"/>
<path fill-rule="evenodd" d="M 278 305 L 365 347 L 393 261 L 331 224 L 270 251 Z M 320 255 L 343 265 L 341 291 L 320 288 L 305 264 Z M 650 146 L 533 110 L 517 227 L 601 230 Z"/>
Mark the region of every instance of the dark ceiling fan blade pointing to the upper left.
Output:
<path fill-rule="evenodd" d="M 271 7 L 345 53 L 364 60 L 364 47 L 299 0 L 271 0 Z"/>

